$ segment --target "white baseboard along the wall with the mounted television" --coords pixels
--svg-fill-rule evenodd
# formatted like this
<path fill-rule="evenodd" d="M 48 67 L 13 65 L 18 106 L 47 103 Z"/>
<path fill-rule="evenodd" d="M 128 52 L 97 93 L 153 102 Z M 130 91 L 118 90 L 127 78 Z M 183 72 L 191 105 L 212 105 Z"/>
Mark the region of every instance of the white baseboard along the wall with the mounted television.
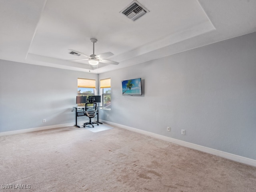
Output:
<path fill-rule="evenodd" d="M 199 150 L 199 151 L 202 151 L 202 152 L 206 152 L 206 153 L 209 153 L 209 154 L 213 154 L 213 155 L 220 156 L 220 157 L 223 157 L 223 158 L 226 158 L 226 159 L 229 159 L 229 160 L 233 160 L 233 161 L 236 161 L 236 162 L 240 162 L 240 163 L 244 163 L 244 164 L 256 167 L 256 160 L 253 160 L 253 159 L 250 159 L 250 158 L 230 154 L 230 153 L 223 152 L 223 151 L 220 151 L 220 150 L 215 150 L 215 149 L 212 149 L 212 148 L 208 148 L 208 147 L 200 146 L 200 145 L 197 145 L 197 144 L 185 142 L 185 141 L 182 141 L 182 140 L 178 140 L 178 139 L 174 139 L 174 138 L 154 134 L 154 133 L 151 133 L 151 132 L 148 132 L 148 131 L 132 128 L 132 127 L 129 127 L 129 126 L 124 126 L 124 125 L 121 125 L 121 124 L 108 122 L 108 121 L 105 121 L 105 120 L 101 120 L 101 121 L 106 123 L 106 124 L 110 124 L 110 125 L 113 125 L 113 126 L 124 128 L 124 129 L 130 130 L 130 131 L 138 132 L 138 133 L 141 133 L 141 134 L 144 134 L 144 135 L 147 135 L 147 136 L 152 136 L 154 138 L 158 138 L 158 139 L 165 140 L 165 141 L 168 141 L 168 142 L 172 142 L 172 143 L 175 143 L 175 144 L 178 144 L 178 145 L 181 145 L 181 146 L 185 146 L 185 147 L 188 147 L 188 148 L 192 148 L 192 149 L 195 149 L 195 150 Z"/>

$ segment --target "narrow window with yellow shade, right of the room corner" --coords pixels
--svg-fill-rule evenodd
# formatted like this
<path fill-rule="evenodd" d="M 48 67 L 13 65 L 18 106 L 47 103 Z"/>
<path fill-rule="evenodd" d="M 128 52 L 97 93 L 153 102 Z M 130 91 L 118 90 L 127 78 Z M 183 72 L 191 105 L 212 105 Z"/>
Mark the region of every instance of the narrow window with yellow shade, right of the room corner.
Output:
<path fill-rule="evenodd" d="M 102 92 L 102 100 L 104 109 L 111 109 L 111 79 L 100 80 L 100 90 Z"/>

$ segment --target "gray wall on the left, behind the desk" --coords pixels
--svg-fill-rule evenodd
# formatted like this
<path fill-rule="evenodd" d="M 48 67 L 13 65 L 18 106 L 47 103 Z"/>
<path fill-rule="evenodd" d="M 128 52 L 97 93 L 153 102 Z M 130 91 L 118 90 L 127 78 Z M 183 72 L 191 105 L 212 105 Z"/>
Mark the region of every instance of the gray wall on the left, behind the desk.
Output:
<path fill-rule="evenodd" d="M 0 60 L 0 132 L 74 122 L 77 78 L 98 84 L 98 74 Z"/>

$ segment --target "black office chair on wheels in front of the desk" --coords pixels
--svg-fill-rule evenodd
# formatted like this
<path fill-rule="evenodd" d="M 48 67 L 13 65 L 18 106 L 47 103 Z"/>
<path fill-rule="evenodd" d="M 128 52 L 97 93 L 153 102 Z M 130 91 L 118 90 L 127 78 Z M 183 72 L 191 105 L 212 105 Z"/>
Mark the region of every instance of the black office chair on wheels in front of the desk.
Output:
<path fill-rule="evenodd" d="M 97 103 L 95 102 L 94 97 L 88 97 L 87 103 L 85 103 L 84 114 L 90 119 L 89 122 L 84 123 L 84 127 L 86 125 L 92 125 L 92 127 L 94 127 L 93 124 L 99 125 L 96 122 L 92 122 L 92 118 L 97 114 Z"/>

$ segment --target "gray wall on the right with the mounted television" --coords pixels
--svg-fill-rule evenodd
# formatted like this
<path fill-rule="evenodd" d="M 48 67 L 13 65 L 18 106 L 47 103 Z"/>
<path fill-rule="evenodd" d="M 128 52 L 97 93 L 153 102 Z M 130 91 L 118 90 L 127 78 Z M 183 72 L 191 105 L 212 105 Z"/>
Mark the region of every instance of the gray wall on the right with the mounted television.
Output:
<path fill-rule="evenodd" d="M 101 110 L 101 119 L 256 160 L 256 33 L 104 78 L 112 110 Z M 121 82 L 131 78 L 142 78 L 142 96 L 122 96 Z"/>

